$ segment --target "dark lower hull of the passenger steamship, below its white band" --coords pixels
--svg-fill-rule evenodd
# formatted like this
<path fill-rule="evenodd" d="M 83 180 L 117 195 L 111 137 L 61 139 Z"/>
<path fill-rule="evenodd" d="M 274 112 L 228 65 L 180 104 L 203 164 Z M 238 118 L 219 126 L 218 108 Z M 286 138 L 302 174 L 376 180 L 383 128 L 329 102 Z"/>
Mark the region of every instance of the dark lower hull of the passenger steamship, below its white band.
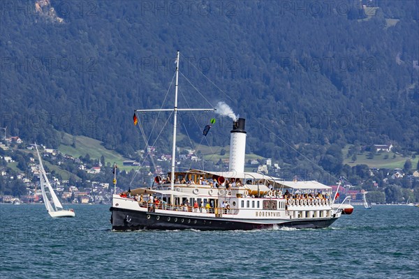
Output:
<path fill-rule="evenodd" d="M 292 227 L 296 229 L 318 229 L 329 227 L 337 218 L 318 220 L 292 220 L 283 223 L 256 223 L 256 220 L 233 220 L 226 218 L 196 218 L 155 212 L 133 211 L 111 207 L 112 230 L 128 231 L 138 229 L 199 229 L 207 230 L 250 230 L 272 227 Z"/>

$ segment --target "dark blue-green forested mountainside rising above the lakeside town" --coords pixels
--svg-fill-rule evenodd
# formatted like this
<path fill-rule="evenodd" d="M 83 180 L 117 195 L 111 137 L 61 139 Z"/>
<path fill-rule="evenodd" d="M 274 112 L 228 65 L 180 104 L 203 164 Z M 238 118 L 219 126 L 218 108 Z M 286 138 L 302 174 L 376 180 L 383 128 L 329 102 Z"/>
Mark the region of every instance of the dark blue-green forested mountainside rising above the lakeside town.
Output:
<path fill-rule="evenodd" d="M 180 50 L 182 75 L 205 98 L 181 75 L 179 107 L 226 102 L 247 119 L 247 152 L 295 163 L 293 146 L 324 167 L 321 156 L 347 143 L 418 151 L 418 1 L 365 5 L 3 1 L 0 125 L 27 142 L 57 147 L 63 131 L 133 156 L 145 147 L 133 110 L 161 107 Z M 195 127 L 202 142 L 214 115 L 198 128 L 182 115 L 180 133 Z M 228 145 L 230 126 L 218 118 L 209 143 Z"/>

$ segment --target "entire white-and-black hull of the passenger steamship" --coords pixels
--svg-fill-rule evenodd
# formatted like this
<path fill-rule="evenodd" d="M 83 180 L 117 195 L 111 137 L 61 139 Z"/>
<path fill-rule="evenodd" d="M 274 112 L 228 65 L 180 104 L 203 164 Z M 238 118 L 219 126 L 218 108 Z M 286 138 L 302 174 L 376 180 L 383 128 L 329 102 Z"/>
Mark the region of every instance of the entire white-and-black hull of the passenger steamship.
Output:
<path fill-rule="evenodd" d="M 251 199 L 251 198 L 250 198 Z M 114 195 L 111 223 L 117 231 L 137 229 L 199 229 L 199 230 L 235 230 L 265 229 L 271 227 L 294 227 L 297 229 L 317 229 L 329 227 L 341 216 L 327 204 L 287 206 L 287 210 L 265 209 L 165 209 L 140 206 L 134 199 Z M 247 199 L 245 199 L 247 200 Z M 256 200 L 256 199 L 255 199 Z M 260 204 L 263 200 L 258 199 Z M 269 199 L 285 204 L 285 199 Z M 239 199 L 237 199 L 239 204 Z M 289 207 L 289 208 L 288 208 Z M 322 216 L 322 217 L 315 217 Z"/>

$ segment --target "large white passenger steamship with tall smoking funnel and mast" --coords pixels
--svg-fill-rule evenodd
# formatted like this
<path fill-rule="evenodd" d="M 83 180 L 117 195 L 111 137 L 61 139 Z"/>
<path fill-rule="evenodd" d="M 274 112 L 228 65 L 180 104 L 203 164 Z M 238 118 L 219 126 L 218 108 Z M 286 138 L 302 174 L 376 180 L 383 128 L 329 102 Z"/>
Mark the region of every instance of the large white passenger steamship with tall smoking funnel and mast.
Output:
<path fill-rule="evenodd" d="M 171 109 L 174 128 L 170 179 L 156 176 L 150 188 L 115 193 L 110 208 L 112 229 L 323 228 L 334 223 L 342 213 L 352 212 L 351 205 L 334 204 L 332 188 L 317 181 L 284 181 L 266 174 L 244 172 L 247 133 L 242 118 L 233 121 L 230 131 L 228 171 L 175 172 L 178 69 L 179 52 L 175 107 Z M 145 111 L 150 110 L 138 110 Z"/>

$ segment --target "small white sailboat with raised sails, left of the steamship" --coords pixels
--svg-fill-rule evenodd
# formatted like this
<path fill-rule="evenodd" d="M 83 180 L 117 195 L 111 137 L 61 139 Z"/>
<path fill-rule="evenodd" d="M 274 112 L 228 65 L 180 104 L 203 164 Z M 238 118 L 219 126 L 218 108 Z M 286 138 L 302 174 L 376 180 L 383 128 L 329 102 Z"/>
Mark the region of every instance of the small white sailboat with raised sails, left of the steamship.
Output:
<path fill-rule="evenodd" d="M 38 146 L 36 146 L 36 153 L 38 153 L 38 160 L 39 160 L 39 179 L 41 181 L 41 191 L 42 191 L 42 197 L 45 203 L 45 207 L 47 208 L 48 213 L 50 213 L 51 217 L 74 217 L 75 212 L 73 209 L 63 209 L 63 206 L 61 205 L 61 202 L 59 202 L 59 199 L 57 195 L 54 192 L 54 189 L 52 189 L 52 186 L 50 184 L 50 181 L 47 178 L 47 174 L 45 173 L 45 169 L 43 168 L 43 163 L 41 160 L 41 155 L 39 155 Z M 49 193 L 52 204 L 50 202 L 50 199 L 48 198 L 47 193 Z"/>

